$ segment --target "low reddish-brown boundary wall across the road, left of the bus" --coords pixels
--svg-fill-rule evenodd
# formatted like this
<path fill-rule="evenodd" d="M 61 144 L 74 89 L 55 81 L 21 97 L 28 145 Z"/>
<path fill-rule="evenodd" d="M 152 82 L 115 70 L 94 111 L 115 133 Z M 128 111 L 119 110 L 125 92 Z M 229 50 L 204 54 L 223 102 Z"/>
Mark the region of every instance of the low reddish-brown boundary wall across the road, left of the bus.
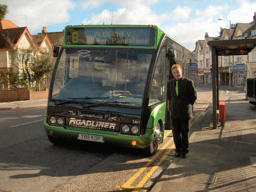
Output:
<path fill-rule="evenodd" d="M 29 89 L 0 90 L 0 102 L 24 101 L 48 98 L 49 90 L 31 91 Z"/>

